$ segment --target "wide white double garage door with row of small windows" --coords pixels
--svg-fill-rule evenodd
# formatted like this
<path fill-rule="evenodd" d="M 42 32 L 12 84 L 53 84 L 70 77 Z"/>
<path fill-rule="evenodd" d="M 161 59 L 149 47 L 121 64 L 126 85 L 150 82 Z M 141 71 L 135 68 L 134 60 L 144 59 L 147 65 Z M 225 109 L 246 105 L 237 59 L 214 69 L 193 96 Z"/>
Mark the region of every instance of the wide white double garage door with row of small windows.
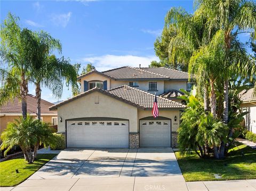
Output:
<path fill-rule="evenodd" d="M 127 148 L 128 121 L 68 121 L 68 147 Z"/>

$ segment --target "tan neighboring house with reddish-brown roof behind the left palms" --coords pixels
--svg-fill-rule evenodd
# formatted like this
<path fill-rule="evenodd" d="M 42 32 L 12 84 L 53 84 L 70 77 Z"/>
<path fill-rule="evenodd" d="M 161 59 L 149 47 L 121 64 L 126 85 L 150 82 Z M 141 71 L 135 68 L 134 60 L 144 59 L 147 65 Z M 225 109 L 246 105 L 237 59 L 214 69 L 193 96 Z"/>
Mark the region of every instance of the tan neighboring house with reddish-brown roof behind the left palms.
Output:
<path fill-rule="evenodd" d="M 50 111 L 49 107 L 53 104 L 41 99 L 41 119 L 45 122 L 50 122 L 53 125 L 58 123 L 57 111 Z M 31 116 L 37 117 L 37 103 L 35 96 L 28 94 L 27 96 L 27 111 Z M 14 101 L 6 102 L 0 106 L 0 129 L 1 132 L 6 128 L 8 122 L 13 122 L 21 116 L 21 102 L 18 98 Z"/>

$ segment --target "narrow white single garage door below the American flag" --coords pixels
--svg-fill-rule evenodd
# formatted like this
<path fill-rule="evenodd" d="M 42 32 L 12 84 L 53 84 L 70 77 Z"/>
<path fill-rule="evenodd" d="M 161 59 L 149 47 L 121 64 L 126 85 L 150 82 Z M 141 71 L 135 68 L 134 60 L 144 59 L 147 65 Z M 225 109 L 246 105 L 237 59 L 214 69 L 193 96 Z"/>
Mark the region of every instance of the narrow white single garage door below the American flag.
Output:
<path fill-rule="evenodd" d="M 171 147 L 171 120 L 140 120 L 141 147 Z"/>

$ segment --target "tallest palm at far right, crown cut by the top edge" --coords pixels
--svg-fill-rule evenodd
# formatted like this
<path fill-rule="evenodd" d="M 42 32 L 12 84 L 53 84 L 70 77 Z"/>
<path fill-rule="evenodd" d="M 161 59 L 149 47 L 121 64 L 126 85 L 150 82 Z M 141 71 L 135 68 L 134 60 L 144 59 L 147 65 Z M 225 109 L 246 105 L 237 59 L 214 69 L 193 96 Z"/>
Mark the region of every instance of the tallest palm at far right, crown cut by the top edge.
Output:
<path fill-rule="evenodd" d="M 255 64 L 244 54 L 243 43 L 238 40 L 237 35 L 248 33 L 251 40 L 255 40 L 256 29 L 256 3 L 244 0 L 197 0 L 197 7 L 201 14 L 207 19 L 209 32 L 212 29 L 224 31 L 226 59 L 223 63 L 223 121 L 228 122 L 228 80 L 234 69 L 248 75 L 255 72 Z M 235 51 L 234 51 L 234 47 Z M 241 49 L 241 51 L 238 51 Z M 250 69 L 250 71 L 248 70 Z"/>

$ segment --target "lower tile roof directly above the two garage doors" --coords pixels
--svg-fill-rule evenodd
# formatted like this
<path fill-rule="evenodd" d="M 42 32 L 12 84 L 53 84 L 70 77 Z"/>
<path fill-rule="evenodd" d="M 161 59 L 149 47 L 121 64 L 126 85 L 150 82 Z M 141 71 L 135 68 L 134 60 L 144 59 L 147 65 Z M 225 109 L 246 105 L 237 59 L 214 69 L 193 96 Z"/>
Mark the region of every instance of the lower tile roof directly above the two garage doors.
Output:
<path fill-rule="evenodd" d="M 120 101 L 125 102 L 127 104 L 137 106 L 142 110 L 151 109 L 154 103 L 154 96 L 155 96 L 154 94 L 150 94 L 143 90 L 124 85 L 124 86 L 119 86 L 109 90 L 102 90 L 100 88 L 95 87 L 93 89 L 88 90 L 87 92 L 81 93 L 75 97 L 67 99 L 66 101 L 63 101 L 61 103 L 51 106 L 50 110 L 55 110 L 61 105 L 74 101 L 75 99 L 78 99 L 80 97 L 83 97 L 95 91 L 98 91 L 103 94 L 114 97 L 116 99 L 119 99 Z M 183 109 L 186 107 L 183 104 L 171 101 L 170 99 L 167 99 L 167 98 L 163 98 L 159 96 L 157 96 L 157 98 L 158 98 L 159 109 Z"/>

